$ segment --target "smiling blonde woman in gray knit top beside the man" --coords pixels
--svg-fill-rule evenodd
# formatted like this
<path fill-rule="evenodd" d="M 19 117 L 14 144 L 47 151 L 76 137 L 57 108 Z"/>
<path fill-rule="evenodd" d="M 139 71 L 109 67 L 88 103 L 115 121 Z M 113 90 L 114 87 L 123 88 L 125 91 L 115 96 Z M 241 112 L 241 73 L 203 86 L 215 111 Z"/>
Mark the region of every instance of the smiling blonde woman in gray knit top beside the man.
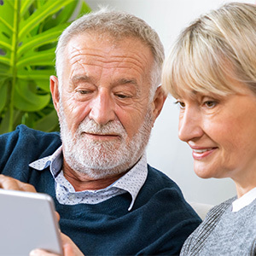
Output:
<path fill-rule="evenodd" d="M 181 255 L 255 255 L 256 6 L 228 3 L 187 27 L 163 86 L 180 106 L 179 138 L 199 177 L 230 177 L 237 196 L 214 207 Z"/>

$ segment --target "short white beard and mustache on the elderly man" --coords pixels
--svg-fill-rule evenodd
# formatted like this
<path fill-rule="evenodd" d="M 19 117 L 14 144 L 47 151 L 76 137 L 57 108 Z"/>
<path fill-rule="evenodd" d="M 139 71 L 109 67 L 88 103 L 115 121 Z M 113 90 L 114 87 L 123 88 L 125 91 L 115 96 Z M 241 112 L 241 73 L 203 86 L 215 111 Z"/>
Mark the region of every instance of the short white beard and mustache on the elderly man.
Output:
<path fill-rule="evenodd" d="M 127 133 L 119 120 L 108 122 L 107 125 L 97 125 L 93 119 L 86 117 L 80 123 L 78 130 L 72 134 L 67 128 L 61 104 L 60 125 L 63 155 L 68 166 L 75 172 L 82 172 L 97 179 L 126 172 L 137 163 L 148 144 L 153 119 L 148 109 L 143 125 L 128 141 Z M 84 132 L 114 133 L 119 135 L 119 140 L 96 141 L 86 136 Z"/>

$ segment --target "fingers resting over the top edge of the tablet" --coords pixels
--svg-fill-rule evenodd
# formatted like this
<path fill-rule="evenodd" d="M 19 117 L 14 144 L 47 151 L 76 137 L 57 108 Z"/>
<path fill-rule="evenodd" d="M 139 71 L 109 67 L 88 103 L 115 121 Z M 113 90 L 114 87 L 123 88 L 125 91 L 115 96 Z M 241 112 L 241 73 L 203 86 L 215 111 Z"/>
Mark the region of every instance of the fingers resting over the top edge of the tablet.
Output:
<path fill-rule="evenodd" d="M 0 174 L 0 189 L 37 192 L 31 184 L 22 183 L 13 177 L 4 176 L 3 174 Z"/>

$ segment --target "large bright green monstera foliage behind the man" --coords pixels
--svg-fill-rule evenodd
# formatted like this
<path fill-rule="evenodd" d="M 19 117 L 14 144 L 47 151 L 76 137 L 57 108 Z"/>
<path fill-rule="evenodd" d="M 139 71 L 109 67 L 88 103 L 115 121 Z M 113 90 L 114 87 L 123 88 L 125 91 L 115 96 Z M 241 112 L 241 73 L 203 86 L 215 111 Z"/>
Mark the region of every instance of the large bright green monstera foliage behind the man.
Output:
<path fill-rule="evenodd" d="M 19 124 L 58 129 L 49 92 L 55 46 L 71 17 L 86 12 L 82 0 L 0 0 L 0 133 Z"/>

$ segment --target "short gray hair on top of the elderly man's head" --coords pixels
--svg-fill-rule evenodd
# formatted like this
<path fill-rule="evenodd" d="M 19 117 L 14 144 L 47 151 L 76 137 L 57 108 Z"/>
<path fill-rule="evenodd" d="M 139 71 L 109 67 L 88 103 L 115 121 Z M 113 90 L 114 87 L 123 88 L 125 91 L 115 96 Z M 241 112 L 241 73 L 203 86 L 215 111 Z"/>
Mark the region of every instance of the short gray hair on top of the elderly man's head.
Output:
<path fill-rule="evenodd" d="M 160 84 L 162 63 L 165 58 L 164 47 L 160 42 L 158 34 L 154 29 L 148 26 L 144 20 L 137 18 L 135 15 L 121 11 L 108 10 L 106 8 L 83 15 L 78 20 L 73 21 L 73 23 L 62 32 L 55 50 L 55 68 L 60 84 L 63 71 L 62 63 L 64 50 L 71 38 L 84 32 L 107 33 L 117 40 L 134 37 L 148 45 L 154 55 L 150 90 L 150 96 L 154 96 L 154 91 Z"/>

